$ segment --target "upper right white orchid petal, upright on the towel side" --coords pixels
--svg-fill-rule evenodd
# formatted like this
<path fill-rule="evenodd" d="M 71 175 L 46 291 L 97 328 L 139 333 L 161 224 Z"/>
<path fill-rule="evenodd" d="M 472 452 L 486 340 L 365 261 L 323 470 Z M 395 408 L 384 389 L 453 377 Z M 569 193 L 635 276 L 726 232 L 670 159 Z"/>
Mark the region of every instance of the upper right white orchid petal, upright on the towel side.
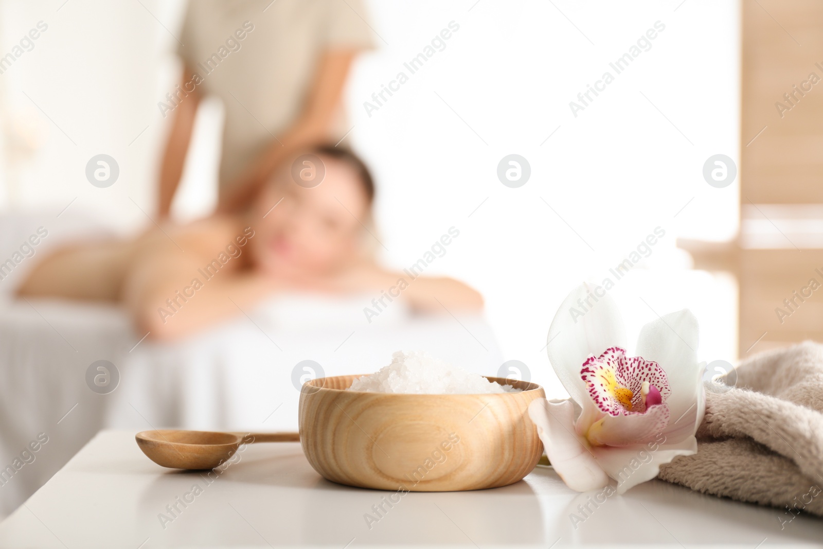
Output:
<path fill-rule="evenodd" d="M 697 319 L 689 309 L 666 314 L 640 330 L 636 355 L 657 362 L 666 372 L 672 388 L 672 394 L 666 400 L 672 421 L 690 413 L 690 407 L 694 407 L 698 400 L 702 375 L 697 362 L 699 340 Z M 678 421 L 678 428 L 685 422 L 686 418 Z M 687 435 L 693 433 L 692 430 Z"/>

